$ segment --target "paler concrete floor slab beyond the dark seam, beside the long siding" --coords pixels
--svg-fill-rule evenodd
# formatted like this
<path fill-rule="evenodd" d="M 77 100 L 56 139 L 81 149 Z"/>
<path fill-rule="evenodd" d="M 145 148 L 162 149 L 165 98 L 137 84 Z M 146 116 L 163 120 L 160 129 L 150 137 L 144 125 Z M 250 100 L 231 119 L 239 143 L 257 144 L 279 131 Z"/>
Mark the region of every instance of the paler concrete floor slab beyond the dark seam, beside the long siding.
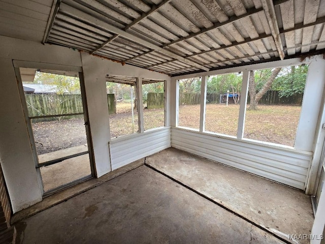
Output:
<path fill-rule="evenodd" d="M 175 148 L 148 157 L 146 164 L 285 239 L 311 233 L 313 209 L 303 191 Z"/>

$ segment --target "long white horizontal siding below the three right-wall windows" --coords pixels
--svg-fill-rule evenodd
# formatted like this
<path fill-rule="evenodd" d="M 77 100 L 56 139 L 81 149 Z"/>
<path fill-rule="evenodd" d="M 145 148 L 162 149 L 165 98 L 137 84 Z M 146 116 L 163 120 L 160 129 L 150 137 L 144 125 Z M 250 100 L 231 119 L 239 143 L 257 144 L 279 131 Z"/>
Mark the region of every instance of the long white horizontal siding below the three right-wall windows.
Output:
<path fill-rule="evenodd" d="M 305 189 L 311 153 L 172 128 L 172 147 L 282 184 Z"/>

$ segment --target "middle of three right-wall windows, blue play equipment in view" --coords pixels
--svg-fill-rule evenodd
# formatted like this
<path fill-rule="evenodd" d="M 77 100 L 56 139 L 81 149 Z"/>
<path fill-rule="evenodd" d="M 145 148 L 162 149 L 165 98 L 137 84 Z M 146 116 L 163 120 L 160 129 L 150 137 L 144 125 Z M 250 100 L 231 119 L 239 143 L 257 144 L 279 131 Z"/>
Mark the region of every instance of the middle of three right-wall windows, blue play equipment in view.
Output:
<path fill-rule="evenodd" d="M 206 131 L 237 136 L 241 86 L 240 73 L 207 79 Z"/>

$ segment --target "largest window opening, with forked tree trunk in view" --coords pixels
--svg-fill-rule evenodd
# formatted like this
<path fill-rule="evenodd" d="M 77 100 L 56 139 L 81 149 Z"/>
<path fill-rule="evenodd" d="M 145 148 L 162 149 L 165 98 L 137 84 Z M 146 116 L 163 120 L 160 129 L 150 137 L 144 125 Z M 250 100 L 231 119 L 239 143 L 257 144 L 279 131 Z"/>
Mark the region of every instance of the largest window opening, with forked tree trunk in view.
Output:
<path fill-rule="evenodd" d="M 250 71 L 244 138 L 295 145 L 307 65 Z"/>

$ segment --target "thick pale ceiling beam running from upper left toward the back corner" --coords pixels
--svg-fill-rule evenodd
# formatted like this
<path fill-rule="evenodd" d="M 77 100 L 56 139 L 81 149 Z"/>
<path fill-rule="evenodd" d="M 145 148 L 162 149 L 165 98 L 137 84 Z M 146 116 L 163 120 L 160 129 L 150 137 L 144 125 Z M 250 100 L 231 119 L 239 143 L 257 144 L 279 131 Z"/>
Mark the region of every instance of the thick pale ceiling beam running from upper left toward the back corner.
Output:
<path fill-rule="evenodd" d="M 191 60 L 188 60 L 174 52 L 171 52 L 171 51 L 168 51 L 168 50 L 165 50 L 163 49 L 162 47 L 159 47 L 151 42 L 148 42 L 148 41 L 145 41 L 137 36 L 134 36 L 133 34 L 131 33 L 127 33 L 125 31 L 123 31 L 122 29 L 119 29 L 118 27 L 115 27 L 114 25 L 111 25 L 109 23 L 106 23 L 105 21 L 102 21 L 100 19 L 97 19 L 85 12 L 82 12 L 78 9 L 75 9 L 69 5 L 66 5 L 66 4 L 61 4 L 60 5 L 60 9 L 61 9 L 61 12 L 62 13 L 67 13 L 68 15 L 71 15 L 72 17 L 74 18 L 78 18 L 84 22 L 87 22 L 87 23 L 90 23 L 91 25 L 93 26 L 96 26 L 100 29 L 106 29 L 106 31 L 110 32 L 110 33 L 114 33 L 114 34 L 118 34 L 120 35 L 121 37 L 123 38 L 126 38 L 130 41 L 133 41 L 133 42 L 136 42 L 142 46 L 145 46 L 149 49 L 153 49 L 155 51 L 159 51 L 161 53 L 164 53 L 166 54 L 167 56 L 170 56 L 172 58 L 176 58 L 178 60 L 181 60 L 182 62 L 184 63 L 187 63 L 189 65 L 192 65 L 192 66 L 195 66 L 201 70 L 205 70 L 205 71 L 208 71 L 209 69 L 207 69 L 206 67 L 198 64 L 198 63 L 195 63 L 195 62 L 192 62 Z"/>

